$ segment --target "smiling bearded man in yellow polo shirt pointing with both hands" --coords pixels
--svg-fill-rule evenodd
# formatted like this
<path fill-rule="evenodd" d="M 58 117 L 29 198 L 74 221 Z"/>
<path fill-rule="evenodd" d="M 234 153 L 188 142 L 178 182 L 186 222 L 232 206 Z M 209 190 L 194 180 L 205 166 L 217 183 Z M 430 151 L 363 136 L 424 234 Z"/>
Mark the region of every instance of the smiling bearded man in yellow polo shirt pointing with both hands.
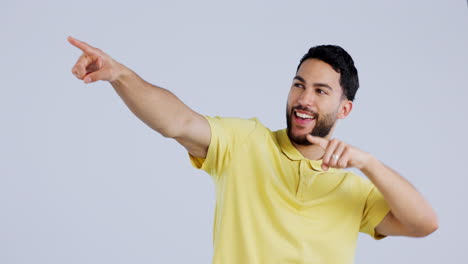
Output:
<path fill-rule="evenodd" d="M 83 51 L 73 74 L 109 81 L 131 111 L 188 151 L 216 184 L 213 263 L 352 263 L 359 232 L 423 237 L 438 228 L 431 206 L 374 156 L 331 139 L 359 87 L 349 54 L 317 46 L 289 91 L 287 129 L 257 119 L 202 116 L 107 54 Z M 360 169 L 368 179 L 343 168 Z"/>

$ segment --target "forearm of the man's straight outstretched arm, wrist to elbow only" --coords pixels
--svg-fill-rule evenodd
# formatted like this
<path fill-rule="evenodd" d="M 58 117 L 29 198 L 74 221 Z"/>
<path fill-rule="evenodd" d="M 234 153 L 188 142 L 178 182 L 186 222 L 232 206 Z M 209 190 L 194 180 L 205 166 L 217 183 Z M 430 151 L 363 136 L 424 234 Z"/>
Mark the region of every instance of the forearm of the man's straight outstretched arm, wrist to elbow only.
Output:
<path fill-rule="evenodd" d="M 124 65 L 110 82 L 130 110 L 165 137 L 176 137 L 194 112 L 170 91 L 154 86 Z"/>

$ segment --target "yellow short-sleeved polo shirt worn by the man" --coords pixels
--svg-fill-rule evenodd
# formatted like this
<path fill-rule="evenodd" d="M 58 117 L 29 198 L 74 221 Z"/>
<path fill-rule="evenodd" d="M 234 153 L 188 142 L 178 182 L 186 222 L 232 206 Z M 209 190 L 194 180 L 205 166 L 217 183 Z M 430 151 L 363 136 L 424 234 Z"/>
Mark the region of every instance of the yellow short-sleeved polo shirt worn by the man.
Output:
<path fill-rule="evenodd" d="M 354 263 L 359 232 L 384 237 L 374 228 L 390 209 L 368 179 L 323 171 L 285 129 L 206 118 L 207 157 L 190 160 L 215 182 L 214 264 Z"/>

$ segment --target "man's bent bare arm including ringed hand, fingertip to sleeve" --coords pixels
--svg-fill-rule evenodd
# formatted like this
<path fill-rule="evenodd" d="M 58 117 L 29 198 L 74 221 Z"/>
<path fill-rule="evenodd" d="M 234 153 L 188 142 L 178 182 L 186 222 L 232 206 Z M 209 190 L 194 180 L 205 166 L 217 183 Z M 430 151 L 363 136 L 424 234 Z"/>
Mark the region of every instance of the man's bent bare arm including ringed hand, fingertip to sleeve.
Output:
<path fill-rule="evenodd" d="M 324 150 L 323 168 L 361 170 L 382 193 L 391 211 L 375 230 L 382 235 L 424 237 L 438 229 L 437 215 L 424 197 L 402 176 L 371 154 L 337 139 L 307 136 Z"/>

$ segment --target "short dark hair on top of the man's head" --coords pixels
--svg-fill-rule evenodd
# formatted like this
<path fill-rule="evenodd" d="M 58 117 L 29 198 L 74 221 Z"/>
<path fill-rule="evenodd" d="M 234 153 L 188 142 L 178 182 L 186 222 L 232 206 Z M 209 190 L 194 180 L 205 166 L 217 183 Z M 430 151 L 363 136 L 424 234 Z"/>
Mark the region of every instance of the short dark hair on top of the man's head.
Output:
<path fill-rule="evenodd" d="M 343 87 L 343 93 L 350 101 L 354 100 L 357 89 L 359 88 L 359 78 L 357 69 L 354 66 L 353 58 L 343 48 L 335 45 L 321 45 L 309 49 L 305 54 L 299 65 L 307 59 L 319 59 L 329 64 L 337 73 L 340 74 L 340 85 Z"/>

